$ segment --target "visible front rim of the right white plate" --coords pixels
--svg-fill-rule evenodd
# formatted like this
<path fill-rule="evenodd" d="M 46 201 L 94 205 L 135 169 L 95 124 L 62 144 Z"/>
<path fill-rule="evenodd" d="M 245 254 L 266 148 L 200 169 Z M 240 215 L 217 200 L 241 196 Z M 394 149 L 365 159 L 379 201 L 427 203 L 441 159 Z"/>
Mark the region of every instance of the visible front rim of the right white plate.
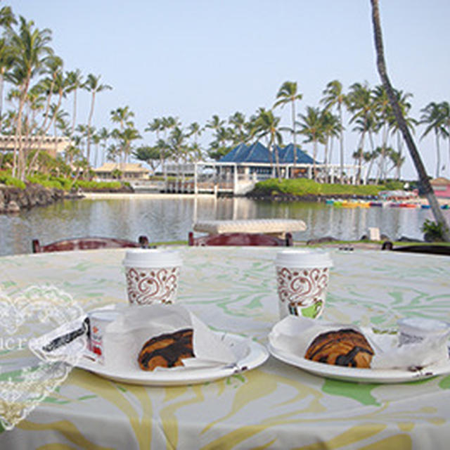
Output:
<path fill-rule="evenodd" d="M 314 373 L 325 378 L 335 378 L 337 380 L 353 381 L 356 383 L 405 383 L 409 381 L 423 380 L 437 375 L 450 373 L 450 359 L 442 364 L 434 364 L 418 371 L 405 371 L 401 369 L 370 369 L 333 366 L 325 363 L 318 363 L 301 356 L 283 352 L 269 344 L 269 352 L 291 366 L 297 366 L 304 371 Z"/>

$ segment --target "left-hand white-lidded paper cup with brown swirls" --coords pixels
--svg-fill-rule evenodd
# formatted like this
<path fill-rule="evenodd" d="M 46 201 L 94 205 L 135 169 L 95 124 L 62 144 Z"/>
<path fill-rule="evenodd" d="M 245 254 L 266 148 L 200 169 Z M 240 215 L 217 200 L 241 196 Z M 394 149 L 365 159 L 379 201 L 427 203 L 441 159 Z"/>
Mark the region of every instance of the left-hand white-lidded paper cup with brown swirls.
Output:
<path fill-rule="evenodd" d="M 181 257 L 162 249 L 127 250 L 123 260 L 131 305 L 176 302 Z"/>

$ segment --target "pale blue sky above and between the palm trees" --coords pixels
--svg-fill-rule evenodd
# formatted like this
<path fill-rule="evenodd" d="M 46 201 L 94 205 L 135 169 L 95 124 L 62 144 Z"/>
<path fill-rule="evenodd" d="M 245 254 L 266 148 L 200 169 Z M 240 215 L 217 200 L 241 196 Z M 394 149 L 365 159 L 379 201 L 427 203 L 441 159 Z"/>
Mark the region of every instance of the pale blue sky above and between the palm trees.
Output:
<path fill-rule="evenodd" d="M 98 94 L 96 127 L 112 128 L 110 110 L 129 105 L 143 143 L 154 117 L 177 116 L 188 126 L 236 111 L 249 116 L 273 105 L 286 80 L 319 105 L 333 79 L 380 84 L 369 0 L 14 0 L 16 15 L 52 30 L 65 70 L 101 75 L 112 91 Z M 430 101 L 450 101 L 450 1 L 380 0 L 387 68 L 392 84 L 413 94 L 411 115 Z M 78 120 L 87 121 L 89 95 L 79 96 Z M 70 110 L 68 103 L 66 108 Z M 278 110 L 290 124 L 289 108 Z M 420 129 L 421 130 L 421 129 Z M 435 174 L 435 144 L 419 140 Z M 205 143 L 209 141 L 205 137 Z M 347 155 L 356 134 L 347 133 Z M 311 152 L 309 145 L 304 145 Z M 449 176 L 447 143 L 442 143 Z M 335 143 L 338 162 L 338 143 Z M 349 156 L 347 162 L 351 162 Z M 403 175 L 416 178 L 409 155 Z"/>

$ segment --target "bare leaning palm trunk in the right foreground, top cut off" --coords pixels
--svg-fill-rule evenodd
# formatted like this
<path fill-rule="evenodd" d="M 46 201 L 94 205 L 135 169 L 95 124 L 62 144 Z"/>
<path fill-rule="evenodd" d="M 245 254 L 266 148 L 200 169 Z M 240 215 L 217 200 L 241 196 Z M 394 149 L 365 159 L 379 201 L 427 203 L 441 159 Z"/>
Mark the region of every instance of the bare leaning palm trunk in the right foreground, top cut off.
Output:
<path fill-rule="evenodd" d="M 418 153 L 416 144 L 413 141 L 413 138 L 409 132 L 409 128 L 404 120 L 403 114 L 401 113 L 401 109 L 399 107 L 399 103 L 397 102 L 397 98 L 395 97 L 394 89 L 392 89 L 390 79 L 387 76 L 378 0 L 371 0 L 371 5 L 372 5 L 373 39 L 375 41 L 378 73 L 380 74 L 383 86 L 385 86 L 385 89 L 387 91 L 387 96 L 389 97 L 389 101 L 392 106 L 394 116 L 399 124 L 399 128 L 401 129 L 401 134 L 403 134 L 404 140 L 406 141 L 406 145 L 408 146 L 409 149 L 409 153 L 411 154 L 411 158 L 413 159 L 414 165 L 416 166 L 420 184 L 422 185 L 423 191 L 428 198 L 428 203 L 430 203 L 433 216 L 435 217 L 437 224 L 442 224 L 442 228 L 444 229 L 443 232 L 444 240 L 450 241 L 449 226 L 446 224 L 446 220 L 444 218 L 444 214 L 442 214 L 441 208 L 439 207 L 439 203 L 437 203 L 435 193 L 433 192 L 430 181 L 428 180 L 428 175 L 427 172 L 425 171 L 422 159 L 420 158 L 420 154 Z"/>

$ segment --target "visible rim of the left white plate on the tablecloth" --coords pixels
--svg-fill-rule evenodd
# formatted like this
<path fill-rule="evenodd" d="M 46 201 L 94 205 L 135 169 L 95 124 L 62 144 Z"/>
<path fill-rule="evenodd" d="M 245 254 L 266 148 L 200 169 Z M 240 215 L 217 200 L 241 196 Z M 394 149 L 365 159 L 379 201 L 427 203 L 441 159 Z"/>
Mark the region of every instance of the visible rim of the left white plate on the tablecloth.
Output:
<path fill-rule="evenodd" d="M 94 372 L 110 380 L 120 381 L 121 383 L 147 386 L 174 386 L 205 383 L 207 381 L 219 380 L 220 378 L 225 378 L 236 373 L 250 371 L 252 368 L 263 364 L 269 357 L 269 353 L 264 346 L 249 338 L 242 338 L 238 335 L 230 335 L 228 333 L 217 334 L 236 354 L 238 358 L 236 364 L 219 366 L 217 368 L 184 368 L 182 370 L 157 370 L 153 372 L 141 371 L 139 368 L 136 368 L 136 370 L 120 372 L 117 369 L 108 369 L 108 366 L 102 366 L 84 356 L 78 362 L 77 367 Z"/>

